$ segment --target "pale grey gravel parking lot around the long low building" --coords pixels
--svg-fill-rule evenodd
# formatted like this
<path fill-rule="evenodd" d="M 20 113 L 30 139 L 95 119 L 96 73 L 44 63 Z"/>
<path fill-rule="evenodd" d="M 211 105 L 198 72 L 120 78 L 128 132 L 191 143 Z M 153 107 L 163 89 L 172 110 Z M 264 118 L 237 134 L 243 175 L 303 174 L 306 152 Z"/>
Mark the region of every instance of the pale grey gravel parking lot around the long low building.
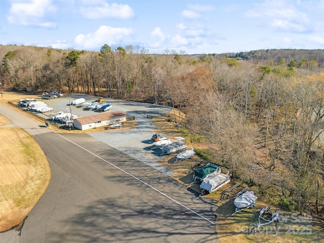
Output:
<path fill-rule="evenodd" d="M 86 102 L 95 101 L 96 97 L 87 95 L 68 95 L 64 98 L 46 100 L 48 106 L 54 108 L 53 113 L 58 111 L 69 112 L 70 102 L 74 99 L 85 98 Z M 172 172 L 160 165 L 158 161 L 161 159 L 158 152 L 147 149 L 151 145 L 148 144 L 149 139 L 153 135 L 153 124 L 147 118 L 147 115 L 165 115 L 172 109 L 167 106 L 153 105 L 147 103 L 138 103 L 132 101 L 122 101 L 114 99 L 104 99 L 105 102 L 112 104 L 112 109 L 106 112 L 123 110 L 128 116 L 135 117 L 137 127 L 136 130 L 116 130 L 115 132 L 91 133 L 90 136 L 106 143 L 107 145 L 128 154 L 129 156 L 142 161 L 144 164 L 153 167 L 166 175 L 172 175 Z M 98 111 L 84 109 L 78 106 L 71 106 L 72 114 L 89 116 L 98 114 Z M 49 115 L 49 114 L 47 114 Z M 43 115 L 44 116 L 44 115 Z"/>

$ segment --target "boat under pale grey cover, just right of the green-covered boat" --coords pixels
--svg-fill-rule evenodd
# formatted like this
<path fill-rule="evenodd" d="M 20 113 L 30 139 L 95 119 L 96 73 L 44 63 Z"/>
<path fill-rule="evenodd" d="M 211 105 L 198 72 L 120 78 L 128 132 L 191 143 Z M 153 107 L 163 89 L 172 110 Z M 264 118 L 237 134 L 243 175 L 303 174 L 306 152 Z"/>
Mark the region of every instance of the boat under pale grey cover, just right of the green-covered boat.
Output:
<path fill-rule="evenodd" d="M 217 173 L 215 175 L 207 177 L 200 184 L 200 188 L 203 190 L 201 191 L 201 194 L 205 195 L 210 192 L 216 191 L 228 182 L 230 182 L 229 171 L 227 172 L 227 174 Z"/>

